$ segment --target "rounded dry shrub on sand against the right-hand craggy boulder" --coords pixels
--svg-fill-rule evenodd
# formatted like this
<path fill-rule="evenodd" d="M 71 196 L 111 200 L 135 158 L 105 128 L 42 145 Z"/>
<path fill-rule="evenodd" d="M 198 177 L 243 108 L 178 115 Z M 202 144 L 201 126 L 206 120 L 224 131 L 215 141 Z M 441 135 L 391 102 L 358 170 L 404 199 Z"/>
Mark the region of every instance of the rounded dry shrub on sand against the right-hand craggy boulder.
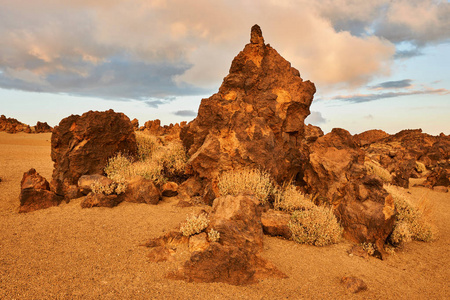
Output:
<path fill-rule="evenodd" d="M 297 210 L 288 223 L 292 239 L 300 244 L 325 246 L 339 242 L 342 227 L 330 208 L 315 206 Z"/>

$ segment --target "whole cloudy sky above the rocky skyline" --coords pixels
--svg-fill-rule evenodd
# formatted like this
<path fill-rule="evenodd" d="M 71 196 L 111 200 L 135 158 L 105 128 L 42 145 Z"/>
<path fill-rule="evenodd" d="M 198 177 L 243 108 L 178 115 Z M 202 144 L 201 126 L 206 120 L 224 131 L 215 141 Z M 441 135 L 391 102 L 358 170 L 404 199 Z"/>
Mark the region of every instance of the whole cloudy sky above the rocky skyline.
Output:
<path fill-rule="evenodd" d="M 445 0 L 0 0 L 0 114 L 190 121 L 254 24 L 315 83 L 306 123 L 450 134 Z"/>

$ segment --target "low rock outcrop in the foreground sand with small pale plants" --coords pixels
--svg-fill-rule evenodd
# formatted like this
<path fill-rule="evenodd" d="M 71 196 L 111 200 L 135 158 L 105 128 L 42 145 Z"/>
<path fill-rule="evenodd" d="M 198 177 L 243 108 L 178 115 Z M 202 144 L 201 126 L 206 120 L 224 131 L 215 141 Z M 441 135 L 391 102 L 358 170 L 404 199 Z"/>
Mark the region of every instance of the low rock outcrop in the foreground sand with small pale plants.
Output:
<path fill-rule="evenodd" d="M 218 231 L 219 241 L 209 241 L 204 232 L 189 238 L 171 232 L 147 244 L 152 248 L 149 257 L 153 261 L 175 260 L 173 257 L 183 252 L 180 249 L 188 249 L 190 254 L 179 269 L 168 275 L 188 282 L 245 285 L 263 278 L 286 277 L 260 256 L 263 230 L 256 198 L 243 194 L 216 198 L 209 220 L 206 231 Z"/>

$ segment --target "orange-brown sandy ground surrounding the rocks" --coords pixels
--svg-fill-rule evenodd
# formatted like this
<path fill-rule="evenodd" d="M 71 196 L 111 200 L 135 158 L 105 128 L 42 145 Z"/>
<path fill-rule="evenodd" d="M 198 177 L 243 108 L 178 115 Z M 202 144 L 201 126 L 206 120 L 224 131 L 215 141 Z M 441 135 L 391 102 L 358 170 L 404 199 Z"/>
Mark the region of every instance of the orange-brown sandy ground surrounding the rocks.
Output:
<path fill-rule="evenodd" d="M 266 237 L 264 257 L 288 279 L 236 287 L 165 279 L 168 263 L 151 263 L 139 246 L 171 230 L 199 208 L 122 203 L 81 209 L 74 200 L 18 214 L 19 183 L 34 167 L 51 178 L 50 134 L 0 132 L 0 299 L 445 299 L 450 297 L 450 194 L 412 188 L 428 197 L 440 234 L 411 242 L 381 261 L 347 254 L 348 243 L 318 248 Z M 368 290 L 349 294 L 343 276 Z"/>

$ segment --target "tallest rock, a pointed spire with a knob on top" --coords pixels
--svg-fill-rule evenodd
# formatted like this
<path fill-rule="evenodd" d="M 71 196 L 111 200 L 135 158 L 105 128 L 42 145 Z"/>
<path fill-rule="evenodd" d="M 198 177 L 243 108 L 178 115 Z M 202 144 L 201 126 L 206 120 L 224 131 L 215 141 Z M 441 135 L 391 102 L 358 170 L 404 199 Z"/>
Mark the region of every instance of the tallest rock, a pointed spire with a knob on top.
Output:
<path fill-rule="evenodd" d="M 279 182 L 291 179 L 302 165 L 299 143 L 315 91 L 253 26 L 219 92 L 181 131 L 191 172 L 214 180 L 224 170 L 262 167 Z"/>

